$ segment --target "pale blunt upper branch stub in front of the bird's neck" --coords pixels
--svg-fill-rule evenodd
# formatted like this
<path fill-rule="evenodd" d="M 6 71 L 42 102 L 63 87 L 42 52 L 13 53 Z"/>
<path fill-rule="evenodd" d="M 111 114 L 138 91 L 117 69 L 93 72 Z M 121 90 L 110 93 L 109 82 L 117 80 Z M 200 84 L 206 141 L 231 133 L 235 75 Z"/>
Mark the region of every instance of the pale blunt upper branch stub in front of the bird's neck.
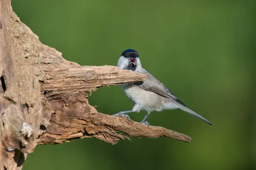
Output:
<path fill-rule="evenodd" d="M 42 91 L 95 90 L 97 87 L 116 86 L 146 79 L 145 74 L 120 70 L 117 66 L 54 65 L 46 70 Z"/>

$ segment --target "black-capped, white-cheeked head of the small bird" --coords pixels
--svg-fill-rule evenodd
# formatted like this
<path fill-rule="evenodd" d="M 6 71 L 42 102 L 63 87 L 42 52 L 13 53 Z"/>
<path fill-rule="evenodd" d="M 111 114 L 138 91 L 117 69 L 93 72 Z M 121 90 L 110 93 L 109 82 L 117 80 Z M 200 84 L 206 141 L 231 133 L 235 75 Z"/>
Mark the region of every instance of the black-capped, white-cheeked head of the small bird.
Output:
<path fill-rule="evenodd" d="M 119 69 L 126 69 L 131 71 L 136 71 L 136 69 L 141 68 L 139 53 L 134 49 L 126 49 L 122 52 L 117 66 Z"/>

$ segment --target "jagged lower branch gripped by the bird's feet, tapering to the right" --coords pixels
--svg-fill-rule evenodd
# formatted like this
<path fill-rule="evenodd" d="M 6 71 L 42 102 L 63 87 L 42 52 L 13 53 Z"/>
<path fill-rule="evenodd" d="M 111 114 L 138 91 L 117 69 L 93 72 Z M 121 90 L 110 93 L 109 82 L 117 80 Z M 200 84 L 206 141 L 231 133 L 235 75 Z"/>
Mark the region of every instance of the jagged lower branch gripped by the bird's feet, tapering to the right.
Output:
<path fill-rule="evenodd" d="M 90 121 L 88 121 L 90 119 Z M 182 133 L 166 129 L 158 126 L 147 126 L 139 122 L 128 120 L 123 117 L 105 115 L 97 112 L 90 115 L 90 118 L 74 119 L 76 127 L 81 126 L 83 130 L 75 130 L 66 127 L 64 134 L 45 133 L 39 138 L 38 144 L 61 144 L 69 142 L 77 138 L 95 137 L 111 144 L 117 144 L 120 139 L 128 139 L 130 137 L 159 138 L 161 136 L 174 138 L 180 141 L 190 142 L 191 138 Z M 73 124 L 74 125 L 74 124 Z M 58 126 L 56 127 L 58 128 Z"/>

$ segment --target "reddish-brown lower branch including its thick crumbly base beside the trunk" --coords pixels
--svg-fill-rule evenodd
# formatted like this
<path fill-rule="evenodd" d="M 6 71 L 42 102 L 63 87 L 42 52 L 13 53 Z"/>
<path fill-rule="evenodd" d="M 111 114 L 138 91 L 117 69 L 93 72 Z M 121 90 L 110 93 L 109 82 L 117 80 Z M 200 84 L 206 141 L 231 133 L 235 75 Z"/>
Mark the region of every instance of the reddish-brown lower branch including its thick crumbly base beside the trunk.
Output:
<path fill-rule="evenodd" d="M 58 96 L 44 98 L 43 106 L 47 108 L 44 115 L 50 119 L 50 125 L 39 138 L 38 144 L 59 144 L 86 137 L 116 144 L 119 139 L 128 138 L 128 135 L 149 138 L 166 136 L 190 141 L 188 136 L 163 127 L 148 127 L 126 118 L 99 113 L 88 104 L 86 92 L 60 92 Z"/>

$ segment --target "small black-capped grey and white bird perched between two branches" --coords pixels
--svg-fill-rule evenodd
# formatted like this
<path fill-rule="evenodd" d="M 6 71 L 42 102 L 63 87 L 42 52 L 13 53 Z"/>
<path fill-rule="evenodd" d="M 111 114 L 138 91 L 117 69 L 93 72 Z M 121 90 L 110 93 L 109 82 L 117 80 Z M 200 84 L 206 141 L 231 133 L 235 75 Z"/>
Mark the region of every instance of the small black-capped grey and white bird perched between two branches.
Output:
<path fill-rule="evenodd" d="M 135 103 L 135 105 L 132 110 L 121 111 L 113 114 L 113 116 L 124 116 L 130 120 L 127 113 L 145 110 L 147 114 L 143 120 L 140 121 L 140 123 L 149 126 L 149 122 L 145 120 L 151 112 L 181 109 L 190 115 L 200 118 L 208 124 L 213 125 L 198 113 L 187 108 L 186 105 L 183 104 L 183 102 L 180 101 L 163 83 L 143 69 L 140 62 L 139 53 L 136 50 L 126 49 L 123 51 L 119 57 L 117 66 L 121 70 L 144 73 L 147 75 L 147 78 L 144 81 L 121 84 L 123 92 L 129 99 L 131 99 L 131 101 Z"/>

